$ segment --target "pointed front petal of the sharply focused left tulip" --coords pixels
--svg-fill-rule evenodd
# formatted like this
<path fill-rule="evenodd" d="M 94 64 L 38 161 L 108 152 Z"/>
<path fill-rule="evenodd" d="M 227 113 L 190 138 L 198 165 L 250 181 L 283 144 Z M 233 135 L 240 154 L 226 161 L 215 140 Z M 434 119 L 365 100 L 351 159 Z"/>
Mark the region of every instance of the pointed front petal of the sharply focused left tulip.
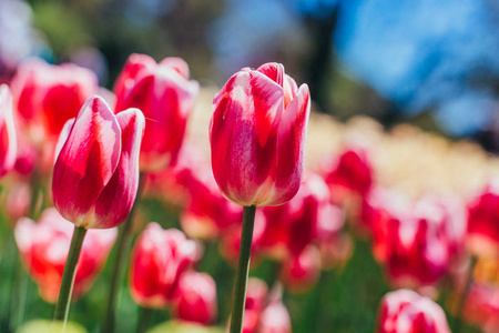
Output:
<path fill-rule="evenodd" d="M 111 180 L 121 154 L 121 129 L 105 101 L 93 95 L 80 110 L 54 165 L 55 208 L 77 226 Z"/>

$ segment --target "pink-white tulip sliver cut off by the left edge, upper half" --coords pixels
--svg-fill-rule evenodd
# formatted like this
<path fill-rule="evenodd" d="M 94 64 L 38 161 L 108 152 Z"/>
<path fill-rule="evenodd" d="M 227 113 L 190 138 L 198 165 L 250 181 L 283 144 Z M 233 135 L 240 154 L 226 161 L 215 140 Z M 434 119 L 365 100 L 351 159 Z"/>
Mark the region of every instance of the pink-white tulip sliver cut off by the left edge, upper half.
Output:
<path fill-rule="evenodd" d="M 16 163 L 17 139 L 12 117 L 12 94 L 7 84 L 0 84 L 0 176 Z"/>

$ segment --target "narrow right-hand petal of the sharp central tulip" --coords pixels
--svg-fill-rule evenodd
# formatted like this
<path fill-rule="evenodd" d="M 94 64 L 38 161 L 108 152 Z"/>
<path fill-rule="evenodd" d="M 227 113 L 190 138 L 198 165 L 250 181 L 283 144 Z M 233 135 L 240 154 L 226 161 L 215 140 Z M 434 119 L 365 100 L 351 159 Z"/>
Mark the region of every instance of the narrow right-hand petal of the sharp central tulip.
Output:
<path fill-rule="evenodd" d="M 305 162 L 305 139 L 310 113 L 309 92 L 302 84 L 296 98 L 281 119 L 277 135 L 275 182 L 272 194 L 259 205 L 277 205 L 289 201 L 299 189 Z"/>

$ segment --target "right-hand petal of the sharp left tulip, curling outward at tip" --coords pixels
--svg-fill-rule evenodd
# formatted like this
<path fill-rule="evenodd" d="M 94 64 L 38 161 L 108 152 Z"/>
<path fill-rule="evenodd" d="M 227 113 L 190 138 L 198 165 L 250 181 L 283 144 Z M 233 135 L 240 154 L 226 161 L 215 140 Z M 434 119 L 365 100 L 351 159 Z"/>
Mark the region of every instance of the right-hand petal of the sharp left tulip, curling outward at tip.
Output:
<path fill-rule="evenodd" d="M 130 213 L 139 188 L 139 153 L 145 120 L 139 109 L 116 114 L 122 135 L 122 150 L 116 171 L 95 201 L 95 218 L 89 228 L 119 225 Z"/>

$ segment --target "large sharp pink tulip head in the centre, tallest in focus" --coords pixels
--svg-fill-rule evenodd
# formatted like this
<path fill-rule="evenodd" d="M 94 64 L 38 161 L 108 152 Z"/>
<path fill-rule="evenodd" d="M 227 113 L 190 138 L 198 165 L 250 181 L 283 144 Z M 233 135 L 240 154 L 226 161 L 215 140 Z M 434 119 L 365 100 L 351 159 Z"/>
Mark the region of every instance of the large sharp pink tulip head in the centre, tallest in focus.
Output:
<path fill-rule="evenodd" d="M 279 63 L 242 69 L 213 101 L 212 168 L 223 195 L 243 206 L 279 205 L 298 191 L 310 110 L 308 87 Z"/>

